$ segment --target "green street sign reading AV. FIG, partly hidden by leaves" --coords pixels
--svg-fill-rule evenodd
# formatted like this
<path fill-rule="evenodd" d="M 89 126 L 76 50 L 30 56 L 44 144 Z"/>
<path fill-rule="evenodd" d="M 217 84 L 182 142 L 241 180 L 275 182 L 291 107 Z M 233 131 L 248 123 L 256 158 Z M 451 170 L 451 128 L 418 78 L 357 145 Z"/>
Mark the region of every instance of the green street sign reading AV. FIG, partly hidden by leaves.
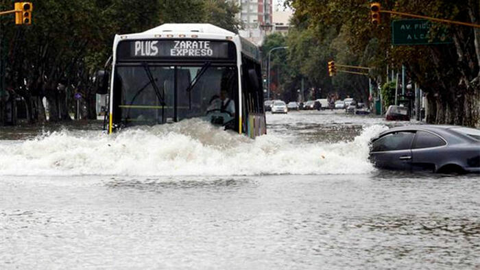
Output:
<path fill-rule="evenodd" d="M 423 19 L 392 21 L 392 45 L 432 45 L 453 42 L 446 29 L 440 29 L 432 38 L 430 28 L 431 22 Z"/>

